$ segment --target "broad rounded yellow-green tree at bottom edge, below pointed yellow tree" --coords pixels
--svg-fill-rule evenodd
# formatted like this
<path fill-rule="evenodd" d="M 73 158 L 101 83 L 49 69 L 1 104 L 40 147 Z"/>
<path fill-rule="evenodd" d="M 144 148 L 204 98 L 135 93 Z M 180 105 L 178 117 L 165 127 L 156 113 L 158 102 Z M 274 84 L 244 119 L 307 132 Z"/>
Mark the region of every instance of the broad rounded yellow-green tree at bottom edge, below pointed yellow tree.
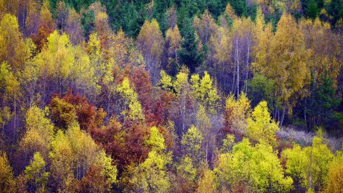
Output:
<path fill-rule="evenodd" d="M 283 168 L 272 147 L 264 142 L 251 146 L 248 139 L 233 147 L 232 153 L 219 155 L 214 169 L 220 190 L 241 188 L 241 192 L 288 192 L 293 180 L 284 176 Z"/>

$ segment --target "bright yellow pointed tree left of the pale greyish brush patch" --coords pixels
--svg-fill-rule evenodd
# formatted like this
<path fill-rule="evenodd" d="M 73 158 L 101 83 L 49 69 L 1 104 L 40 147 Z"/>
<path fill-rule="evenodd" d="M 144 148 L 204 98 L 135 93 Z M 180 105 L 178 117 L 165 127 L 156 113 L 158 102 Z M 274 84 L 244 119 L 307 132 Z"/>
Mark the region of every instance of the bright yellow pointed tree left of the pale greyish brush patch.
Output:
<path fill-rule="evenodd" d="M 252 141 L 264 140 L 267 144 L 276 146 L 277 123 L 271 119 L 267 102 L 261 101 L 248 118 L 247 134 Z"/>

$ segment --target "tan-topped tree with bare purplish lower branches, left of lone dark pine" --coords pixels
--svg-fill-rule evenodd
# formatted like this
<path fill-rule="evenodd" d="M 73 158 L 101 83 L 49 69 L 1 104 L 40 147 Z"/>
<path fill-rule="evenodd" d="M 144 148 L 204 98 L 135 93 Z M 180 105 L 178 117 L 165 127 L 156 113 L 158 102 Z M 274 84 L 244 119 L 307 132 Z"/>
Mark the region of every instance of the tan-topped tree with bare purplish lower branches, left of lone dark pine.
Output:
<path fill-rule="evenodd" d="M 145 21 L 137 37 L 137 47 L 142 52 L 146 69 L 149 71 L 153 83 L 157 82 L 155 77 L 158 74 L 163 45 L 164 40 L 157 21 L 155 19 L 152 19 L 151 22 Z"/>

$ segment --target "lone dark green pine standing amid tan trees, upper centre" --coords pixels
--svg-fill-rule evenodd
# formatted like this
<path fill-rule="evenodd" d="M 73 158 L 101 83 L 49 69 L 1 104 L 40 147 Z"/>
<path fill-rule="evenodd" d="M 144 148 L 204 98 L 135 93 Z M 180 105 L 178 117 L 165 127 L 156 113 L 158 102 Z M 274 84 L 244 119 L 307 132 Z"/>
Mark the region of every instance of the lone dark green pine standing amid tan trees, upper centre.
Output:
<path fill-rule="evenodd" d="M 204 52 L 198 52 L 199 40 L 196 40 L 193 28 L 193 20 L 191 18 L 185 19 L 183 28 L 181 30 L 182 36 L 182 49 L 178 52 L 181 58 L 181 64 L 185 64 L 192 72 L 203 63 Z"/>

